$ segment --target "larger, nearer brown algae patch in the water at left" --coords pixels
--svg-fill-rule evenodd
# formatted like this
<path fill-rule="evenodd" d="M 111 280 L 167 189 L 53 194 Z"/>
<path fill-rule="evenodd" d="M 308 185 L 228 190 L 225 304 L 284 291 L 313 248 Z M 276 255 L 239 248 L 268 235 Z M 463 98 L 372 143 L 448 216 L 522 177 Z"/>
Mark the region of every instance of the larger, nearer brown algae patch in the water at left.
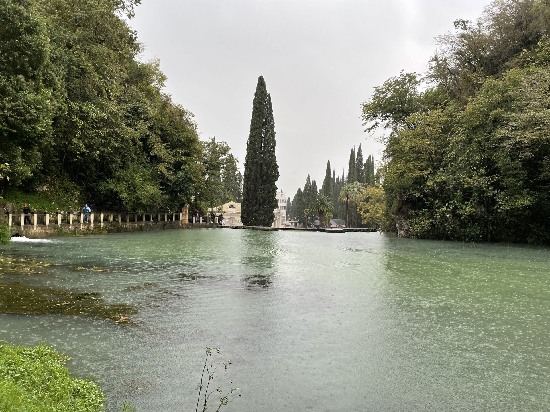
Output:
<path fill-rule="evenodd" d="M 128 315 L 138 308 L 127 304 L 103 303 L 99 293 L 77 293 L 62 289 L 30 287 L 22 282 L 0 283 L 0 313 L 63 315 L 86 314 L 93 318 L 134 324 Z"/>

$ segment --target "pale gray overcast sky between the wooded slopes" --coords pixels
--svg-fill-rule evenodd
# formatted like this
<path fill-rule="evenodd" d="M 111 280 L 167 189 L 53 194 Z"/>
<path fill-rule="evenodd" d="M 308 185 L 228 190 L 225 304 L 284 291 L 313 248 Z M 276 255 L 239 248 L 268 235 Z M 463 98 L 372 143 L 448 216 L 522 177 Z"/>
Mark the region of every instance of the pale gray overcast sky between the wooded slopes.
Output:
<path fill-rule="evenodd" d="M 351 147 L 381 146 L 363 133 L 361 102 L 405 71 L 425 72 L 433 37 L 476 19 L 480 0 L 142 0 L 130 25 L 161 59 L 165 91 L 195 114 L 202 139 L 246 154 L 252 98 L 271 93 L 279 181 L 288 196 L 307 174 L 321 187 L 327 159 L 347 171 Z M 378 133 L 379 134 L 379 133 Z M 376 136 L 376 135 L 375 135 Z"/>

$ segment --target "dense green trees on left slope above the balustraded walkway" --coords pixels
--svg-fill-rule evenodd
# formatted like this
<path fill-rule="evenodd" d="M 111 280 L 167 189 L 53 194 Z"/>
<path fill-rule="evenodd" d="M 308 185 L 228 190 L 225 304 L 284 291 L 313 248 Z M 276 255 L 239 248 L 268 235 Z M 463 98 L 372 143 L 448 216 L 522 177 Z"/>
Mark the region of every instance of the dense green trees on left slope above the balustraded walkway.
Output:
<path fill-rule="evenodd" d="M 193 114 L 162 93 L 133 1 L 0 2 L 0 190 L 70 188 L 97 208 L 177 208 L 202 180 Z"/>

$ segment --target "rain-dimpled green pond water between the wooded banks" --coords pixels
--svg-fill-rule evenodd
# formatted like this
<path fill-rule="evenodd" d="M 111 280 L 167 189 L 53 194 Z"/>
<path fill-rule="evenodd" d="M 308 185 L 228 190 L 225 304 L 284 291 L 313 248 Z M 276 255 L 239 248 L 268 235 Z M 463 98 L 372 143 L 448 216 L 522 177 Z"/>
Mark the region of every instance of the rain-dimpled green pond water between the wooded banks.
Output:
<path fill-rule="evenodd" d="M 0 282 L 139 308 L 133 326 L 0 314 L 0 339 L 47 339 L 78 375 L 100 378 L 112 410 L 126 397 L 136 410 L 194 410 L 206 345 L 233 362 L 215 381 L 240 388 L 228 411 L 550 409 L 546 248 L 196 229 L 0 253 L 59 264 Z M 93 266 L 106 271 L 77 270 Z"/>

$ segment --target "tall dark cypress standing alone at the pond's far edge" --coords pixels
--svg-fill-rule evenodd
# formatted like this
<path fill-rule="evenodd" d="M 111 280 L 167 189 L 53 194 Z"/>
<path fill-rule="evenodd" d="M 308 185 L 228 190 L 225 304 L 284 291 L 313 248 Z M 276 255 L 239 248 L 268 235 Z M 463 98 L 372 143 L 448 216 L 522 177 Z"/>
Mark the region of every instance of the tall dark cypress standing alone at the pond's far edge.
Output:
<path fill-rule="evenodd" d="M 248 226 L 271 226 L 277 208 L 279 166 L 275 157 L 275 123 L 271 96 L 258 77 L 244 163 L 241 219 Z"/>

